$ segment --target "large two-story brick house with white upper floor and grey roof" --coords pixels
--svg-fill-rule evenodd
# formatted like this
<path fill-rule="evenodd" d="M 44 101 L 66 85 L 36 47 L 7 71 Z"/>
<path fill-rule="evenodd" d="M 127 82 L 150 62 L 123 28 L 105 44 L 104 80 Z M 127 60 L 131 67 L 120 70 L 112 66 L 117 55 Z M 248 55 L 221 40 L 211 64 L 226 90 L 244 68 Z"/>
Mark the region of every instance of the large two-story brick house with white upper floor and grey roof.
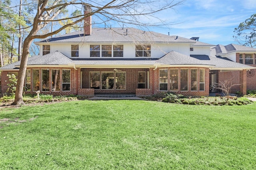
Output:
<path fill-rule="evenodd" d="M 256 49 L 215 46 L 198 38 L 85 24 L 84 31 L 35 42 L 40 54 L 28 59 L 25 92 L 208 96 L 212 82 L 230 78 L 240 84 L 235 90 L 242 94 L 248 87 L 255 90 Z M 20 61 L 0 68 L 2 92 L 7 89 L 6 74 L 17 73 L 19 66 Z"/>

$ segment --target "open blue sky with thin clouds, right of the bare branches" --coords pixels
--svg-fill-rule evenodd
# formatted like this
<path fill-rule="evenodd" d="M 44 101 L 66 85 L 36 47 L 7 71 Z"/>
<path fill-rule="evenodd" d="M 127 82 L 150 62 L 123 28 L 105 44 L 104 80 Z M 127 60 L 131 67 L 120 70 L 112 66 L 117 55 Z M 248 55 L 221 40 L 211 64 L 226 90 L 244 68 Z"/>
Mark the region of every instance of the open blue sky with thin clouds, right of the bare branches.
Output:
<path fill-rule="evenodd" d="M 256 0 L 187 0 L 175 11 L 160 14 L 161 18 L 179 23 L 152 31 L 181 37 L 200 37 L 213 45 L 238 44 L 232 37 L 234 28 L 256 12 Z"/>

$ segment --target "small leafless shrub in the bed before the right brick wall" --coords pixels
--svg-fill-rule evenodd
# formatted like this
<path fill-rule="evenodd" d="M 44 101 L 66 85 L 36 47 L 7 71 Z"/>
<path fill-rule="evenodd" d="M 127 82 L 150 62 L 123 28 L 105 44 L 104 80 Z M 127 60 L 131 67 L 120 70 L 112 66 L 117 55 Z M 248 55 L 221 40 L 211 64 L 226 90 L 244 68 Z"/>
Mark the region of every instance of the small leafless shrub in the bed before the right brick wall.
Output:
<path fill-rule="evenodd" d="M 229 79 L 229 80 L 224 80 L 224 82 L 219 82 L 219 83 L 214 82 L 212 87 L 222 90 L 224 96 L 230 96 L 231 88 L 238 85 L 240 84 L 234 84 L 233 79 Z"/>

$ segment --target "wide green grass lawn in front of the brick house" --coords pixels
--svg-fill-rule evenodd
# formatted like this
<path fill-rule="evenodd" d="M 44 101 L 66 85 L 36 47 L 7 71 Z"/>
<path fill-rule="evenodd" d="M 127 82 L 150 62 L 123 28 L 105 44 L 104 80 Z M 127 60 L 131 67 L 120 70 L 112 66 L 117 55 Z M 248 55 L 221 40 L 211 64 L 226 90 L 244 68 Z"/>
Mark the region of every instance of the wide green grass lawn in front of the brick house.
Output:
<path fill-rule="evenodd" d="M 0 119 L 26 120 L 0 123 L 0 169 L 256 169 L 255 107 L 84 100 L 0 109 Z"/>

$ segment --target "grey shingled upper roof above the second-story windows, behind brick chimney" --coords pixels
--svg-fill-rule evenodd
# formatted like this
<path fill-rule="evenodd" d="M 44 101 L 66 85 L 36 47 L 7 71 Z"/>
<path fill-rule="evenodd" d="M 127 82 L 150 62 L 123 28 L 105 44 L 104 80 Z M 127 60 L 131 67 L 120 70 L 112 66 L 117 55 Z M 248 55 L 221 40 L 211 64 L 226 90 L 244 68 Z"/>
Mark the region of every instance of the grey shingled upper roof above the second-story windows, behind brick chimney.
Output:
<path fill-rule="evenodd" d="M 136 28 L 92 28 L 91 35 L 85 35 L 83 31 L 76 31 L 57 37 L 52 37 L 45 39 L 38 43 L 113 43 L 113 42 L 122 42 L 122 43 L 196 43 L 192 39 L 187 39 L 178 36 L 169 36 L 161 33 L 156 33 L 152 31 L 142 31 Z"/>

